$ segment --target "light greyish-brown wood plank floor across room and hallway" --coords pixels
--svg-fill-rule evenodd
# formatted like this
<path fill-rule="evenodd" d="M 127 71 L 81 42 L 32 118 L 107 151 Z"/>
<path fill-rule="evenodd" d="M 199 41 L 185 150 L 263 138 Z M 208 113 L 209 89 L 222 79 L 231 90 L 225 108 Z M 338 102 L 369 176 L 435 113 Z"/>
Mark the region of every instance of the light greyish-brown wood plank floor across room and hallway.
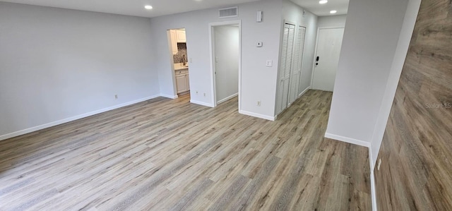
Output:
<path fill-rule="evenodd" d="M 371 210 L 367 148 L 323 138 L 331 96 L 277 121 L 159 97 L 0 141 L 0 210 Z"/>

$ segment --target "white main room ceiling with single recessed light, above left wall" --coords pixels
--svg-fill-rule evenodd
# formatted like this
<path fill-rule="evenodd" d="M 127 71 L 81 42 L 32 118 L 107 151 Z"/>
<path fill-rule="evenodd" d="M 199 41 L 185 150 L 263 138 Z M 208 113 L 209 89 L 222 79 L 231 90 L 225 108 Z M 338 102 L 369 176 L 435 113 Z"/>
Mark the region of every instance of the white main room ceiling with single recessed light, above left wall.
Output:
<path fill-rule="evenodd" d="M 82 11 L 114 13 L 153 18 L 204 8 L 220 8 L 259 0 L 0 0 L 18 4 L 71 8 Z M 145 5 L 153 6 L 146 10 Z"/>

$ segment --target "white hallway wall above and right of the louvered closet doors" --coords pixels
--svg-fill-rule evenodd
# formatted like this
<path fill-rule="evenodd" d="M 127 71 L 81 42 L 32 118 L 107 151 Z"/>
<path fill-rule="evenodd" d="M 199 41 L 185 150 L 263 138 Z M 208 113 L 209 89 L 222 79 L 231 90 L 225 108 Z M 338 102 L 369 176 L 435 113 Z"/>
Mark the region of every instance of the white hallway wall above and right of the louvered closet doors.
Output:
<path fill-rule="evenodd" d="M 317 16 L 294 4 L 292 1 L 283 0 L 283 18 L 292 23 L 301 24 L 306 27 L 306 37 L 304 40 L 304 54 L 302 64 L 301 90 L 311 87 L 312 68 L 314 65 L 314 54 L 316 51 L 317 39 Z"/>

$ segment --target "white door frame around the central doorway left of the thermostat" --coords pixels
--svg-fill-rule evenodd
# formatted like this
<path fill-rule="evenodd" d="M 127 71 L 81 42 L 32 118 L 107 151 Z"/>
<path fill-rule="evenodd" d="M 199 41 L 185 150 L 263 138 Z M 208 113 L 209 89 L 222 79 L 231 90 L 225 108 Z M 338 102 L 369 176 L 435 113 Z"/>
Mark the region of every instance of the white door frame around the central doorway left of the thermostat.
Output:
<path fill-rule="evenodd" d="M 215 40 L 213 37 L 213 28 L 219 25 L 239 25 L 239 111 L 241 110 L 242 102 L 242 20 L 231 20 L 224 22 L 209 23 L 209 44 L 210 44 L 210 83 L 212 87 L 212 99 L 213 107 L 217 107 L 217 94 L 216 94 L 216 82 L 215 82 Z"/>

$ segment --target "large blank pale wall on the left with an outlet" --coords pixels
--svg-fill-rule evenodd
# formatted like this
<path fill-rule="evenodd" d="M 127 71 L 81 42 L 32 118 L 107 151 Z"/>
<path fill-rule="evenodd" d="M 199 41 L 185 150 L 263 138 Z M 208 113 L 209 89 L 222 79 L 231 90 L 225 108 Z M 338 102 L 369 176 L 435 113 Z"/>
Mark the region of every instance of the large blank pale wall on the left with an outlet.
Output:
<path fill-rule="evenodd" d="M 149 18 L 0 2 L 0 139 L 158 95 L 150 36 Z"/>

